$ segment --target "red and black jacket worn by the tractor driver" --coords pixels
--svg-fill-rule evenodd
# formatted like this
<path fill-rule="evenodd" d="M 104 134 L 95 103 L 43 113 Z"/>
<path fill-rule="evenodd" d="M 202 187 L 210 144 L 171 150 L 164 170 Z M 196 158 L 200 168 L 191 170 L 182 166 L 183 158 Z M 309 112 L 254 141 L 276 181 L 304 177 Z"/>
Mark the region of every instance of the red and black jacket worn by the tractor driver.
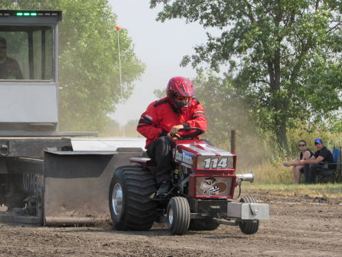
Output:
<path fill-rule="evenodd" d="M 200 127 L 207 129 L 207 117 L 202 104 L 193 98 L 185 112 L 176 112 L 170 105 L 168 98 L 162 98 L 147 107 L 146 112 L 140 117 L 137 132 L 146 137 L 146 146 L 157 140 L 160 136 L 166 136 L 174 125 L 183 124 L 184 127 Z M 179 132 L 180 135 L 189 132 Z"/>

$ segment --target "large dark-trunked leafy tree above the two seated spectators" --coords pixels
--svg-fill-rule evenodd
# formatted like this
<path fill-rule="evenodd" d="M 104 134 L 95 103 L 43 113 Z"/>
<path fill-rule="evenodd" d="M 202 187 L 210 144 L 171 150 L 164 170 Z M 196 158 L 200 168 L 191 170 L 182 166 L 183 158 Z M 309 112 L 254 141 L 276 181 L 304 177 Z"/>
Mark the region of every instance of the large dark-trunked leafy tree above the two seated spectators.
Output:
<path fill-rule="evenodd" d="M 158 21 L 183 18 L 208 34 L 182 65 L 202 62 L 231 70 L 247 83 L 241 91 L 263 130 L 288 151 L 295 121 L 325 119 L 341 106 L 341 3 L 337 0 L 150 0 L 163 5 Z"/>

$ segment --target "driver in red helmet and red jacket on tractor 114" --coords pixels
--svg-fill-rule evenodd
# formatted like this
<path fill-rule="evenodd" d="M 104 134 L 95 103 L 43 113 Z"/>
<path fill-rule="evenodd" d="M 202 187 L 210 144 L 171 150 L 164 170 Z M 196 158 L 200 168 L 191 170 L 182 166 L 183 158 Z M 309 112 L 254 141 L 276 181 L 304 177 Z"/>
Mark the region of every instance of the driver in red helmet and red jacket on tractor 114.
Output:
<path fill-rule="evenodd" d="M 192 82 L 185 77 L 172 77 L 162 99 L 150 103 L 140 118 L 137 131 L 146 137 L 146 153 L 157 162 L 155 180 L 162 197 L 170 190 L 171 182 L 171 142 L 176 136 L 189 132 L 179 131 L 186 127 L 207 128 L 207 117 L 200 102 L 194 98 Z"/>

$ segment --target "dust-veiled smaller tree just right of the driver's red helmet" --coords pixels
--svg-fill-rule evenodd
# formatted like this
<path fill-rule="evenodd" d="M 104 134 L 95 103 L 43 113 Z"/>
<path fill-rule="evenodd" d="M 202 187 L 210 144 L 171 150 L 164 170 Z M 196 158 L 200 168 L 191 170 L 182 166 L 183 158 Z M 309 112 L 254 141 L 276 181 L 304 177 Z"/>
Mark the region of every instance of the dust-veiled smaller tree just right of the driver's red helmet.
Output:
<path fill-rule="evenodd" d="M 218 77 L 214 72 L 198 71 L 192 80 L 196 87 L 196 98 L 206 110 L 208 118 L 207 135 L 215 145 L 227 143 L 231 138 L 231 130 L 240 130 L 241 134 L 254 134 L 248 108 L 241 95 L 241 87 L 237 87 L 231 75 Z M 215 97 L 213 97 L 215 95 Z"/>

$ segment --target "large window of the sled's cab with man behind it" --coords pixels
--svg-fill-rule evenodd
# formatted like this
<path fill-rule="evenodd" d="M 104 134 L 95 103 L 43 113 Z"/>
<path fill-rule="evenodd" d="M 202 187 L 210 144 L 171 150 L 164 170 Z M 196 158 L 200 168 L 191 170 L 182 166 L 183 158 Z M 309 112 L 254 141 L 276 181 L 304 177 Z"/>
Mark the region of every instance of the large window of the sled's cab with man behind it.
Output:
<path fill-rule="evenodd" d="M 53 79 L 53 28 L 0 26 L 0 79 Z"/>

